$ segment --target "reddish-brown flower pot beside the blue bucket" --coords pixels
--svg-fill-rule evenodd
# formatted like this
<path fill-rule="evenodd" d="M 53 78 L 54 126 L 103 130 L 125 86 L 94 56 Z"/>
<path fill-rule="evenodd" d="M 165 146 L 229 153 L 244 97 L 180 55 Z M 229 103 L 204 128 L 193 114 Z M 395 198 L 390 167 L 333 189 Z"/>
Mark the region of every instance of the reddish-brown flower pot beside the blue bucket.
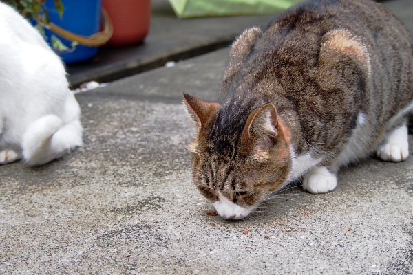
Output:
<path fill-rule="evenodd" d="M 109 45 L 133 45 L 143 41 L 151 20 L 150 0 L 103 0 L 114 33 Z"/>

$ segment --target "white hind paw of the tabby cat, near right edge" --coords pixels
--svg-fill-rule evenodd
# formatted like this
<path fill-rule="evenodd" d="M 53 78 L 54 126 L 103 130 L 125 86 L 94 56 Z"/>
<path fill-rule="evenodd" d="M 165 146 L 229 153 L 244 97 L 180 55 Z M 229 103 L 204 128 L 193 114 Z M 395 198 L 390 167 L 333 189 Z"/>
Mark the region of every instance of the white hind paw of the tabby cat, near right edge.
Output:
<path fill-rule="evenodd" d="M 377 157 L 390 162 L 401 162 L 409 156 L 407 126 L 393 129 L 377 149 Z"/>

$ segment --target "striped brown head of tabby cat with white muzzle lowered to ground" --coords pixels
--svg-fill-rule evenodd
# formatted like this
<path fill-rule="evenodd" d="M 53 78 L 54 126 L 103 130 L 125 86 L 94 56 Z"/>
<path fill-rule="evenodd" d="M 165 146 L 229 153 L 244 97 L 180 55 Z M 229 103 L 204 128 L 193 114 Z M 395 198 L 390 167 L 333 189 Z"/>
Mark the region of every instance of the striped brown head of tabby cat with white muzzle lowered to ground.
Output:
<path fill-rule="evenodd" d="M 235 114 L 187 94 L 184 103 L 198 127 L 189 145 L 195 185 L 221 217 L 246 217 L 288 179 L 290 131 L 273 104 Z"/>

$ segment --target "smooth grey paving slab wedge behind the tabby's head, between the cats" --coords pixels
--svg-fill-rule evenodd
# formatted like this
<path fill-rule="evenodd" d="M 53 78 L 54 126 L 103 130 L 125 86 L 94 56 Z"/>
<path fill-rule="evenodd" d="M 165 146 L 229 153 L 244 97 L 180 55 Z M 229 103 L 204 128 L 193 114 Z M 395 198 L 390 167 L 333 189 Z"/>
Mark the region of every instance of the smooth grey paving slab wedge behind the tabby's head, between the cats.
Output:
<path fill-rule="evenodd" d="M 209 102 L 218 99 L 220 79 L 229 58 L 229 48 L 204 54 L 173 67 L 161 67 L 116 81 L 89 94 L 128 95 L 141 98 L 182 100 L 182 93 Z M 205 85 L 209 83 L 209 85 Z"/>

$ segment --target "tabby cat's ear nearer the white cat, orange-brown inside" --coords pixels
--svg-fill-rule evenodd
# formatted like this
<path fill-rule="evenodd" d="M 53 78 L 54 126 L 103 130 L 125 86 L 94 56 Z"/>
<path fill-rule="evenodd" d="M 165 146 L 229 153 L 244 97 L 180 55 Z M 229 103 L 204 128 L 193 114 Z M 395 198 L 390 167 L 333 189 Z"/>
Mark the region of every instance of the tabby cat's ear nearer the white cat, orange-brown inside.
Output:
<path fill-rule="evenodd" d="M 199 128 L 207 124 L 211 116 L 220 109 L 220 104 L 203 102 L 189 94 L 184 94 L 184 104 L 187 106 L 189 116 Z"/>

